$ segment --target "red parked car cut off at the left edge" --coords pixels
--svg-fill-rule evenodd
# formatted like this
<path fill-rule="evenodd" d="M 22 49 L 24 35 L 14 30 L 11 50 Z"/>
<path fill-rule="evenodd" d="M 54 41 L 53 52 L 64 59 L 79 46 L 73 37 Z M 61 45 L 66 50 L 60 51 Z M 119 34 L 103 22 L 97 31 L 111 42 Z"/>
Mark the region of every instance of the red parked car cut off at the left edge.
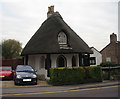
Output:
<path fill-rule="evenodd" d="M 13 78 L 13 74 L 12 74 L 12 68 L 10 66 L 0 67 L 1 80 L 6 80 L 6 79 L 11 80 L 12 78 Z"/>

